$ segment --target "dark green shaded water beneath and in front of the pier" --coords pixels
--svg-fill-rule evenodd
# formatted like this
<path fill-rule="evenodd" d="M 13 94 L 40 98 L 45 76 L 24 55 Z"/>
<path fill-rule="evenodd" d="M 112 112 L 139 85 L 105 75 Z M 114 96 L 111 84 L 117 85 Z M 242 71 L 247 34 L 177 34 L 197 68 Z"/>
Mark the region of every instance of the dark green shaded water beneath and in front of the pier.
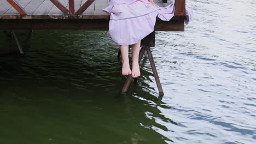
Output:
<path fill-rule="evenodd" d="M 11 41 L 1 41 L 0 143 L 170 140 L 152 130 L 154 125 L 167 130 L 164 125 L 145 117 L 150 111 L 165 119 L 157 105 L 132 96 L 161 104 L 142 91 L 148 87 L 145 82 L 132 83 L 127 94 L 120 94 L 126 78 L 120 73 L 118 49 L 106 32 L 23 31 L 18 36 L 25 55 L 19 55 L 14 44 L 9 47 Z M 2 38 L 8 35 L 2 33 Z"/>

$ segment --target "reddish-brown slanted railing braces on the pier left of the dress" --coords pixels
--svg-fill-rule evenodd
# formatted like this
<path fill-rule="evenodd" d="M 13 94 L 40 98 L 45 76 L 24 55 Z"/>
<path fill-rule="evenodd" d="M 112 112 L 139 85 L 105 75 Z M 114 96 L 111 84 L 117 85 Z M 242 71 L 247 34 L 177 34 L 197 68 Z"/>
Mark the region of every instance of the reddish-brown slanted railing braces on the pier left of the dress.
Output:
<path fill-rule="evenodd" d="M 50 0 L 58 9 L 62 11 L 63 14 L 69 15 L 81 15 L 84 11 L 95 1 L 95 0 L 88 0 L 86 1 L 76 12 L 74 11 L 74 0 L 68 0 L 69 9 L 67 9 L 61 2 L 58 0 Z M 10 5 L 18 11 L 20 15 L 27 15 L 25 9 L 21 7 L 21 5 L 16 0 L 7 0 Z"/>

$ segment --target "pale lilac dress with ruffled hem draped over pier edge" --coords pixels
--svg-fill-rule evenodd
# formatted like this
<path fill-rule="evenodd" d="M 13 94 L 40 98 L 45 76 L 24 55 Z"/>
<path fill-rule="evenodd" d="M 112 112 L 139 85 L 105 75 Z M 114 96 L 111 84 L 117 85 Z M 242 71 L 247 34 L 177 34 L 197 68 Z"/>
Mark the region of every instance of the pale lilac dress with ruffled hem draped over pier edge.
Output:
<path fill-rule="evenodd" d="M 131 45 L 154 31 L 156 16 L 161 20 L 170 21 L 174 16 L 174 4 L 157 7 L 148 0 L 111 0 L 103 9 L 110 13 L 109 35 L 118 45 Z M 193 15 L 186 10 L 189 19 Z"/>

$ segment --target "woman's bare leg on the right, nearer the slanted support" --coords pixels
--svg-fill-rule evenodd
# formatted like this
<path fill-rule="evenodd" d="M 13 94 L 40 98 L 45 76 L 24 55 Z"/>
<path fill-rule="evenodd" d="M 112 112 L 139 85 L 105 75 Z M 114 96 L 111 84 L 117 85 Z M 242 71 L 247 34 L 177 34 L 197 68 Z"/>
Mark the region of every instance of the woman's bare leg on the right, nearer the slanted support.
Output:
<path fill-rule="evenodd" d="M 139 49 L 141 47 L 141 41 L 132 45 L 132 77 L 138 77 L 141 75 L 141 71 L 139 71 Z"/>

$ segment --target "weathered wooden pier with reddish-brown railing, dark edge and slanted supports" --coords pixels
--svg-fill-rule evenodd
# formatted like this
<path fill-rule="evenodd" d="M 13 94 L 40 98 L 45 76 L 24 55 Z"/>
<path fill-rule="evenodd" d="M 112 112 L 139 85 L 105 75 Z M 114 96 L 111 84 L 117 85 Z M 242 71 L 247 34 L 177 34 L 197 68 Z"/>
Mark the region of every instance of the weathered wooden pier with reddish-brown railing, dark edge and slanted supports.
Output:
<path fill-rule="evenodd" d="M 184 31 L 185 0 L 175 1 L 175 15 L 166 22 L 156 20 L 155 31 Z M 160 7 L 165 7 L 173 1 L 154 0 Z M 15 30 L 98 30 L 108 31 L 110 15 L 103 11 L 109 0 L 0 0 L 0 30 L 10 30 L 16 43 L 19 41 Z M 140 59 L 148 53 L 150 64 L 155 76 L 160 94 L 162 91 L 158 73 L 155 68 L 150 47 L 155 45 L 155 32 L 142 40 Z M 22 49 L 21 49 L 22 50 Z M 23 52 L 23 51 L 22 51 Z M 128 77 L 123 92 L 131 83 Z"/>

